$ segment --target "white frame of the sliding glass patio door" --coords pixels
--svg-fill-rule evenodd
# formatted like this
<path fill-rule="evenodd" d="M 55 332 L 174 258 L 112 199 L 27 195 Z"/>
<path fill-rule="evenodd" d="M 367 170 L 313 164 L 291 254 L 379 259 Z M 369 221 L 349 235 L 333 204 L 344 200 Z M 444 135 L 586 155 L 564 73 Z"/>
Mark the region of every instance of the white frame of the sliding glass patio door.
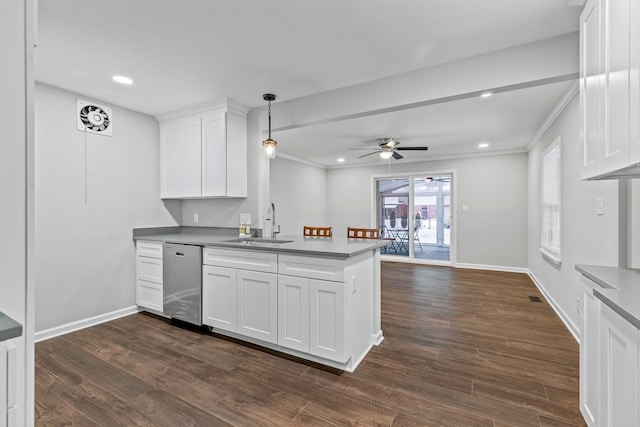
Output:
<path fill-rule="evenodd" d="M 423 258 L 414 258 L 414 244 L 413 239 L 410 239 L 409 244 L 409 256 L 396 256 L 396 255 L 387 255 L 380 254 L 381 261 L 393 261 L 393 262 L 405 262 L 411 264 L 426 264 L 426 265 L 447 265 L 447 266 L 456 266 L 457 263 L 457 253 L 458 253 L 458 209 L 457 209 L 457 198 L 458 198 L 458 180 L 457 180 L 457 171 L 456 169 L 440 169 L 440 170 L 432 170 L 432 171 L 418 171 L 418 172 L 405 172 L 405 173 L 393 173 L 393 174 L 376 174 L 371 175 L 371 224 L 376 224 L 376 227 L 379 226 L 378 222 L 378 190 L 376 183 L 380 180 L 392 180 L 392 179 L 407 179 L 409 181 L 409 212 L 414 211 L 414 188 L 413 188 L 413 180 L 415 178 L 421 178 L 425 176 L 436 176 L 436 175 L 451 175 L 451 234 L 449 236 L 449 261 L 441 261 L 441 260 L 433 260 L 433 259 L 423 259 Z M 413 227 L 414 216 L 409 215 L 408 227 L 411 229 Z"/>

